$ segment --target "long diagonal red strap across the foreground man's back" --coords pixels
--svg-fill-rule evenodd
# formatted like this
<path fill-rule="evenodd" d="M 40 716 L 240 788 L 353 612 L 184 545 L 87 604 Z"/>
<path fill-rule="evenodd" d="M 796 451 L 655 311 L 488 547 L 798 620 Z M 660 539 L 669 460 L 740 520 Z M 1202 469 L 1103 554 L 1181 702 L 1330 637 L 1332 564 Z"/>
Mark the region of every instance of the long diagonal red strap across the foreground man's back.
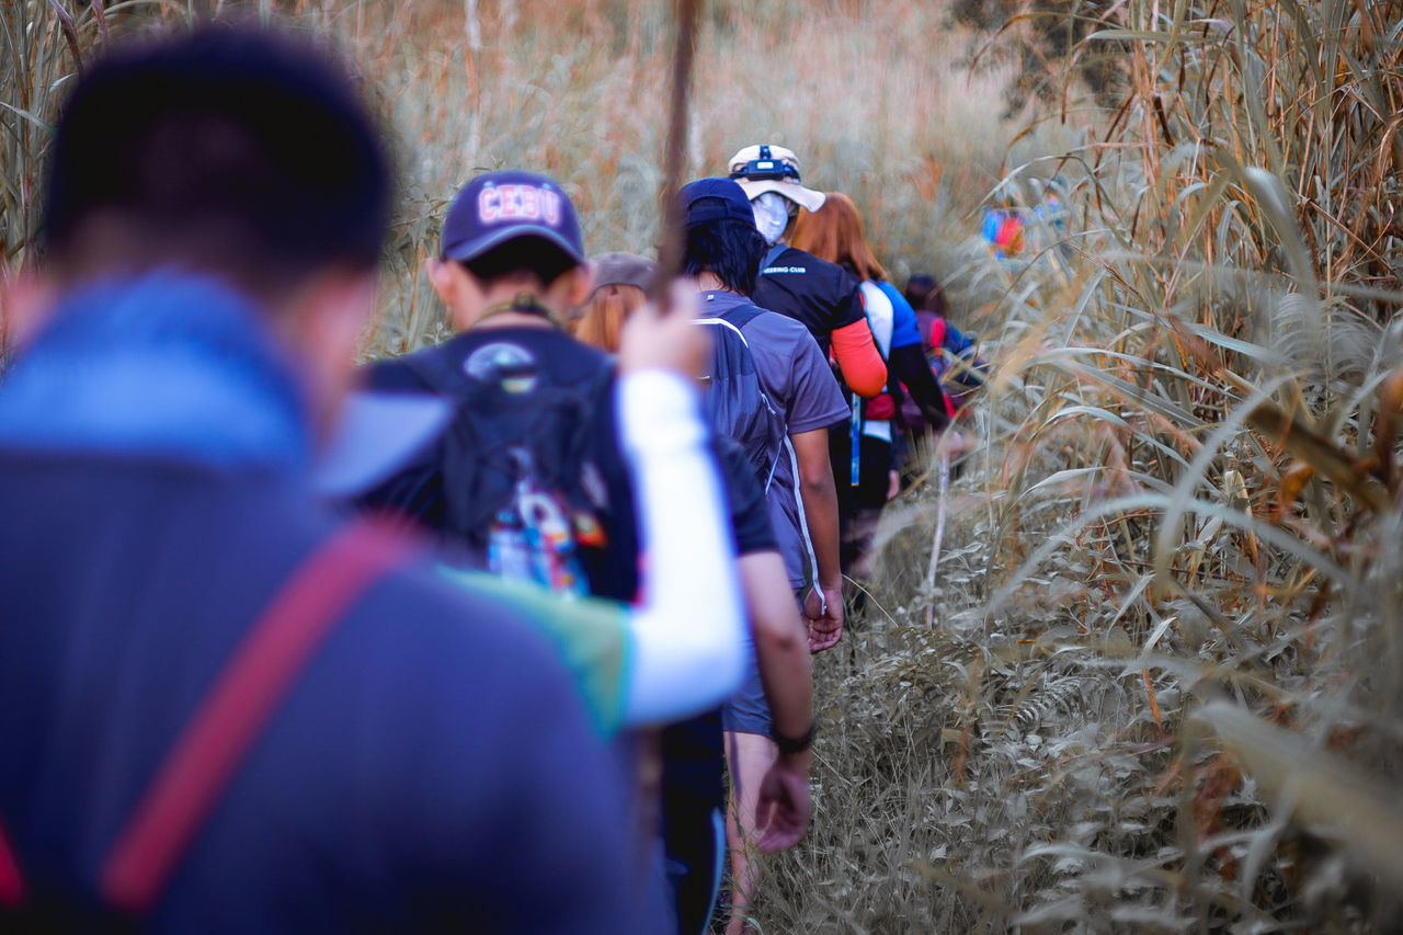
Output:
<path fill-rule="evenodd" d="M 264 724 L 317 647 L 411 541 L 351 522 L 282 584 L 201 701 L 102 866 L 104 898 L 150 910 Z"/>

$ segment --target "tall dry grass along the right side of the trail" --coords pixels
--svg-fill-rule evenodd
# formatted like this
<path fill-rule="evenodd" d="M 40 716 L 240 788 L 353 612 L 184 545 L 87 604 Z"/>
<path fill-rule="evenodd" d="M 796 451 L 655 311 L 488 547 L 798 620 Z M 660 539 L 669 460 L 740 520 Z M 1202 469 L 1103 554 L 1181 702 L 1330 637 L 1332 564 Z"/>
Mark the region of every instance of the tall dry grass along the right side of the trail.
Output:
<path fill-rule="evenodd" d="M 934 588 L 937 496 L 890 517 L 769 931 L 1403 925 L 1400 14 L 1083 46 L 1131 84 L 1085 226 L 1002 302 Z"/>

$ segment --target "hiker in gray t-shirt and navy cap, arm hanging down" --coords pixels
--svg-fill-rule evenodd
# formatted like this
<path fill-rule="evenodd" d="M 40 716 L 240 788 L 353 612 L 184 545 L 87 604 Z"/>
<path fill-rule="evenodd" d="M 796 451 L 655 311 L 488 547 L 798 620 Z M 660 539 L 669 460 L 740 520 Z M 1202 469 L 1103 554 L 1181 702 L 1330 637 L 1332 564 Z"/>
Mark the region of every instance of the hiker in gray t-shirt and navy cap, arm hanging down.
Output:
<path fill-rule="evenodd" d="M 696 277 L 702 320 L 716 333 L 707 407 L 718 421 L 718 431 L 735 432 L 732 437 L 742 442 L 758 480 L 766 486 L 793 595 L 774 591 L 770 583 L 780 567 L 769 556 L 749 557 L 756 566 L 745 580 L 766 583 L 763 614 L 777 628 L 797 608 L 805 608 L 812 628 L 810 647 L 818 651 L 836 643 L 842 633 L 842 618 L 833 614 L 842 608 L 842 597 L 828 427 L 840 421 L 847 407 L 812 336 L 793 319 L 751 302 L 766 244 L 741 187 L 728 178 L 703 178 L 683 187 L 679 198 L 686 225 L 683 268 Z M 758 382 L 749 385 L 748 394 L 745 375 Z M 718 394 L 741 403 L 725 418 L 718 413 Z M 760 409 L 773 410 L 773 421 L 749 418 Z M 807 590 L 811 548 L 805 536 L 812 538 L 821 556 L 817 590 L 826 592 L 828 614 L 819 611 L 815 591 Z M 793 604 L 786 608 L 788 601 Z M 804 684 L 807 667 L 793 653 L 767 647 L 760 632 L 758 625 L 759 663 L 752 664 L 742 689 L 723 710 L 732 778 L 728 810 L 734 880 L 728 931 L 732 932 L 745 929 L 746 910 L 755 896 L 755 852 L 777 844 L 767 840 L 774 821 L 766 807 L 767 788 L 777 781 L 794 786 L 805 782 L 812 741 L 807 699 L 797 691 L 786 698 L 773 685 L 766 692 L 760 679 L 760 672 L 769 682 L 787 670 L 787 681 L 797 689 Z M 774 701 L 773 709 L 767 699 Z M 780 701 L 786 703 L 781 706 Z"/>

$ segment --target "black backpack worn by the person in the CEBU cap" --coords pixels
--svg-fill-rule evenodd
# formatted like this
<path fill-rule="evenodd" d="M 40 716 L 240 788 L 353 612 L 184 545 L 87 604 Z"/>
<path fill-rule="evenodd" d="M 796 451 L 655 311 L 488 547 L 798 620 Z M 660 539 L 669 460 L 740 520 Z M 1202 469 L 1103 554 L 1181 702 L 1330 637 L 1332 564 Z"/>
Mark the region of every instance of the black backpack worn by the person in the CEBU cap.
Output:
<path fill-rule="evenodd" d="M 595 463 L 613 366 L 572 382 L 505 361 L 473 375 L 449 354 L 404 358 L 453 400 L 442 439 L 443 535 L 455 563 L 565 594 L 591 592 L 582 549 L 606 543 L 607 486 Z"/>

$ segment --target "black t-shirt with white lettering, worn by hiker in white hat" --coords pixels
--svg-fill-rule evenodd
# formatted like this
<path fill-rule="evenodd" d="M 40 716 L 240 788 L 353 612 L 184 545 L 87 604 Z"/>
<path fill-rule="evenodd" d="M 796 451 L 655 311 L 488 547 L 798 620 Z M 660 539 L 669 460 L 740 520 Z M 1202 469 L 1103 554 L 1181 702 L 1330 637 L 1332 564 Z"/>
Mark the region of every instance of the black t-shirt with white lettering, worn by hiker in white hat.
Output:
<path fill-rule="evenodd" d="M 842 267 L 796 247 L 766 260 L 751 300 L 801 321 L 825 357 L 829 334 L 867 320 L 857 279 Z"/>

